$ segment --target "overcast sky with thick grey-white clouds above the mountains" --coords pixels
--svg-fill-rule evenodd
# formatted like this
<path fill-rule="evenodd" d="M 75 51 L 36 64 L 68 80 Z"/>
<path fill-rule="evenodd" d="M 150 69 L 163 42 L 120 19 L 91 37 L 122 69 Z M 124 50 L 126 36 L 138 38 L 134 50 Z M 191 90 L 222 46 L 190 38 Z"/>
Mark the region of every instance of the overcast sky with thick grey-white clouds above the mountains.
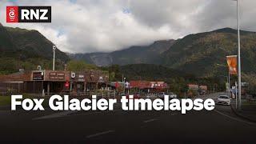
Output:
<path fill-rule="evenodd" d="M 256 1 L 240 3 L 242 30 L 256 31 Z M 7 24 L 6 6 L 52 6 L 52 22 Z M 237 27 L 233 0 L 1 0 L 0 22 L 38 30 L 70 53 L 122 50 Z"/>

